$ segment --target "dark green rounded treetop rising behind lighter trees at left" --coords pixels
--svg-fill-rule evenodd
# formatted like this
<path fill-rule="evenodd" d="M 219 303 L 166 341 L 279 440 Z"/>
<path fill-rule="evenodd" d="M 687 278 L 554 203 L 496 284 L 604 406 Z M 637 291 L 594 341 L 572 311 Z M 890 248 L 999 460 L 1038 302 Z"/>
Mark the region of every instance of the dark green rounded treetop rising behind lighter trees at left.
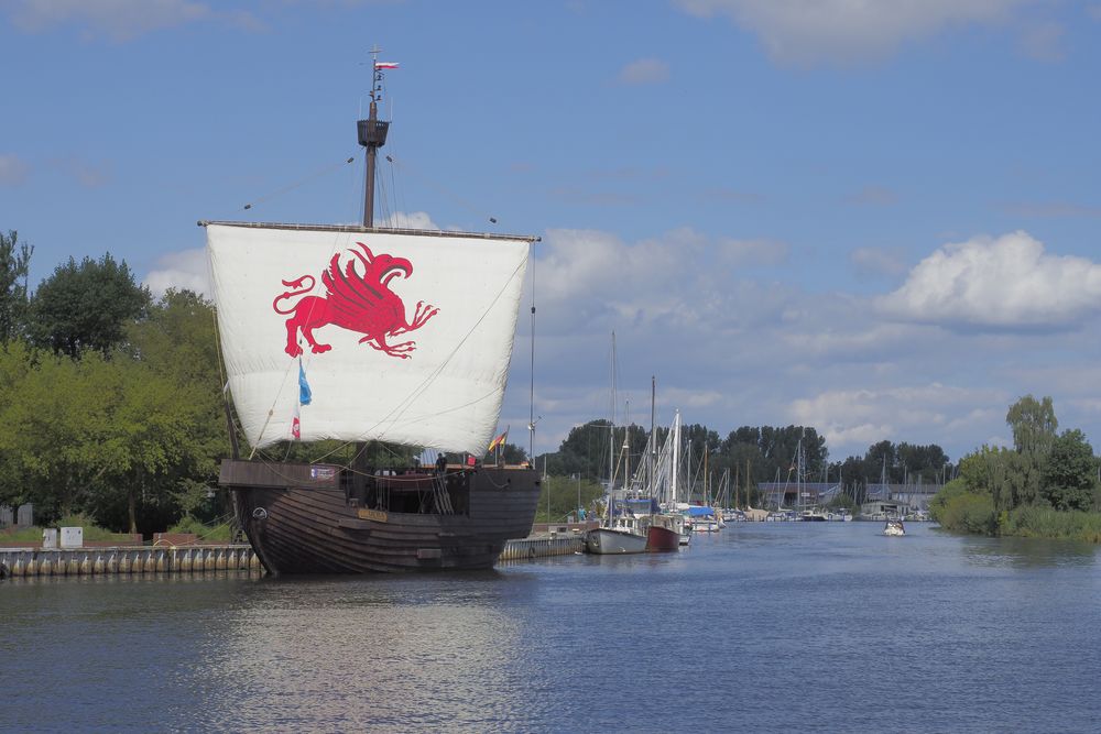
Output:
<path fill-rule="evenodd" d="M 126 262 L 110 254 L 99 260 L 73 258 L 42 282 L 30 303 L 28 331 L 39 347 L 72 359 L 86 350 L 105 357 L 126 340 L 126 329 L 150 306 Z"/>

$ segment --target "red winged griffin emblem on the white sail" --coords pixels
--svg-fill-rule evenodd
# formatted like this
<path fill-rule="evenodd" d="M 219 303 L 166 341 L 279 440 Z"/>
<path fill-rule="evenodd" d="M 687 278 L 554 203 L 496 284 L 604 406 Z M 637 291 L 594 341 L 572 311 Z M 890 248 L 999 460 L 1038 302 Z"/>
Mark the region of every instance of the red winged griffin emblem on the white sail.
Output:
<path fill-rule="evenodd" d="M 413 274 L 413 264 L 405 258 L 392 255 L 375 255 L 362 242 L 357 242 L 362 250 L 348 250 L 358 262 L 363 263 L 364 273 L 357 270 L 357 260 L 349 260 L 340 270 L 340 253 L 333 255 L 329 267 L 321 273 L 325 284 L 325 297 L 306 296 L 292 308 L 283 310 L 279 302 L 309 293 L 317 281 L 313 275 L 303 275 L 297 281 L 283 281 L 283 285 L 292 291 L 285 291 L 275 296 L 272 308 L 282 316 L 291 315 L 286 320 L 286 353 L 291 357 L 302 354 L 298 347 L 297 332 L 309 342 L 309 349 L 315 354 L 327 352 L 330 344 L 319 344 L 314 339 L 314 329 L 334 324 L 342 329 L 358 331 L 363 335 L 359 343 L 364 341 L 372 348 L 390 357 L 403 360 L 410 358 L 410 352 L 416 349 L 416 342 L 403 341 L 400 344 L 388 344 L 386 339 L 419 329 L 439 309 L 418 300 L 413 320 L 405 320 L 405 304 L 390 289 L 390 281 L 399 275 L 408 277 Z M 308 285 L 303 285 L 309 281 Z"/>

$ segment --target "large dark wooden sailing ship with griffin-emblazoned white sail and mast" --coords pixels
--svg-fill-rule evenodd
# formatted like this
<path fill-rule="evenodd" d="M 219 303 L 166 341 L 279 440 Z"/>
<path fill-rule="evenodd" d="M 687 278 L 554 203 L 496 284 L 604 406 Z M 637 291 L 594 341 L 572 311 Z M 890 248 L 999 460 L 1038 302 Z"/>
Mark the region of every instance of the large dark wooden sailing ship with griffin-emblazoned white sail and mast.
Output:
<path fill-rule="evenodd" d="M 199 222 L 236 419 L 252 453 L 221 465 L 272 573 L 491 568 L 528 535 L 530 467 L 482 465 L 500 415 L 534 237 L 375 227 L 383 69 L 375 57 L 362 227 Z M 358 447 L 349 465 L 287 463 L 288 440 Z M 447 464 L 367 465 L 367 441 L 432 447 Z M 443 456 L 443 453 L 440 454 Z"/>

